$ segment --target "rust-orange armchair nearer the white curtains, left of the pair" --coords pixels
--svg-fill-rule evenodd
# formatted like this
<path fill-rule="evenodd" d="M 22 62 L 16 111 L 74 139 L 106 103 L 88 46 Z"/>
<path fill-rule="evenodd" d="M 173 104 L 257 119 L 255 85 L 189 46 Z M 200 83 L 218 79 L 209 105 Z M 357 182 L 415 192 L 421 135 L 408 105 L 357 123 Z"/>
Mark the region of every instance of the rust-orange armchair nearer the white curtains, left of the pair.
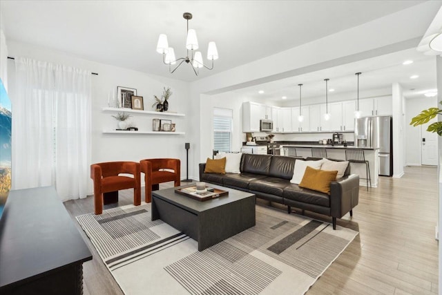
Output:
<path fill-rule="evenodd" d="M 132 174 L 133 178 L 119 175 Z M 140 163 L 103 162 L 90 165 L 90 178 L 94 181 L 95 214 L 103 213 L 105 193 L 133 188 L 133 204 L 141 204 Z"/>

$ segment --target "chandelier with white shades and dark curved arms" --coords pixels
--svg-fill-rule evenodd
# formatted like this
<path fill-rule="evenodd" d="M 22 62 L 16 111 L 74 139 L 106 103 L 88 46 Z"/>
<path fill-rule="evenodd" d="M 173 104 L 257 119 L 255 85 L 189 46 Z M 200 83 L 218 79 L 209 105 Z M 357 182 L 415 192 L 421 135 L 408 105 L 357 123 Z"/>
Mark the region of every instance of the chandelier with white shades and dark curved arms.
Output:
<path fill-rule="evenodd" d="M 189 19 L 192 19 L 192 14 L 190 12 L 184 12 L 182 17 L 184 17 L 184 19 L 187 21 L 186 57 L 180 57 L 179 59 L 175 58 L 175 50 L 173 50 L 172 47 L 169 47 L 167 36 L 165 34 L 160 34 L 160 37 L 158 38 L 157 53 L 161 53 L 163 55 L 164 64 L 169 65 L 169 73 L 175 72 L 175 70 L 179 68 L 185 61 L 186 64 L 191 64 L 193 72 L 195 72 L 195 75 L 198 76 L 199 69 L 202 67 L 208 70 L 213 69 L 213 61 L 218 59 L 218 50 L 216 49 L 215 42 L 210 41 L 209 47 L 207 48 L 207 59 L 212 61 L 212 66 L 210 68 L 205 66 L 202 61 L 201 52 L 195 51 L 198 49 L 196 32 L 193 29 L 189 30 Z M 177 61 L 179 61 L 179 64 L 172 69 L 172 65 L 177 64 Z"/>

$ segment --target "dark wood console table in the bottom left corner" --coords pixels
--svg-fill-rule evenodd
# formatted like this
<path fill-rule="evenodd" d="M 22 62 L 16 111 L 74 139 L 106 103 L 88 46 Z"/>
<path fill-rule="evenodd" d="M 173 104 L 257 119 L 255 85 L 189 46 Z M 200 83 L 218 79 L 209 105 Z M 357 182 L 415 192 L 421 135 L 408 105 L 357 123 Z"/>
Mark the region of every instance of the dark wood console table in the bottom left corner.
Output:
<path fill-rule="evenodd" d="M 54 187 L 10 191 L 0 220 L 0 294 L 82 294 L 92 254 Z"/>

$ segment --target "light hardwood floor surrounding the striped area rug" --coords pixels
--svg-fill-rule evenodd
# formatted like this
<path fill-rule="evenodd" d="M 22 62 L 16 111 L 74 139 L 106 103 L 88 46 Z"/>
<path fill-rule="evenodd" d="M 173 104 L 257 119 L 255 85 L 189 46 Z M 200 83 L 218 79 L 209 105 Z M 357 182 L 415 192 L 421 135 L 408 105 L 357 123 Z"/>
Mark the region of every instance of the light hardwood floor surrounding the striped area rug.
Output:
<path fill-rule="evenodd" d="M 402 178 L 381 177 L 376 189 L 361 187 L 353 217 L 347 214 L 338 220 L 338 225 L 359 235 L 307 294 L 438 294 L 437 188 L 437 169 L 425 166 L 405 167 Z M 120 193 L 119 206 L 132 202 L 131 190 Z M 73 218 L 93 212 L 91 196 L 64 204 Z M 258 205 L 267 202 L 260 200 Z M 305 215 L 331 222 L 327 216 L 307 211 Z M 80 231 L 93 251 L 93 260 L 84 263 L 84 294 L 122 294 Z"/>

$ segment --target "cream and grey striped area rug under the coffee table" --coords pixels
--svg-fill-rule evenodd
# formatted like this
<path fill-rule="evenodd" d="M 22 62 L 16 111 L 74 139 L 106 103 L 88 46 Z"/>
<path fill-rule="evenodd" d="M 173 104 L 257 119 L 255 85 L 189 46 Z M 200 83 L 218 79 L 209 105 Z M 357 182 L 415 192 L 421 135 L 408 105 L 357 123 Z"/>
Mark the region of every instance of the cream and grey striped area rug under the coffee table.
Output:
<path fill-rule="evenodd" d="M 256 226 L 198 251 L 151 204 L 77 216 L 125 294 L 304 294 L 357 231 L 256 206 Z"/>

